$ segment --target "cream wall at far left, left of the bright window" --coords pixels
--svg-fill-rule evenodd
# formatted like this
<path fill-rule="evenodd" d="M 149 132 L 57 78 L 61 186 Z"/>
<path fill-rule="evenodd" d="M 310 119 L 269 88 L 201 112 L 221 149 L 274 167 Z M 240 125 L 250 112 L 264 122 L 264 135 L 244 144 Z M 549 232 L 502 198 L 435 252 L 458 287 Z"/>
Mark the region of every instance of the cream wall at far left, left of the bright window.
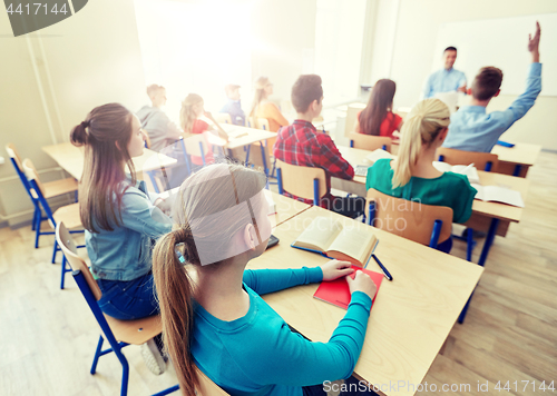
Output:
<path fill-rule="evenodd" d="M 0 12 L 3 157 L 6 143 L 13 142 L 23 158 L 32 159 L 41 180 L 58 179 L 63 172 L 42 146 L 69 140 L 71 127 L 95 106 L 117 101 L 135 109 L 145 101 L 133 7 L 133 0 L 89 1 L 71 18 L 18 38 Z M 0 166 L 2 208 L 0 225 L 32 217 L 30 199 L 8 160 Z"/>

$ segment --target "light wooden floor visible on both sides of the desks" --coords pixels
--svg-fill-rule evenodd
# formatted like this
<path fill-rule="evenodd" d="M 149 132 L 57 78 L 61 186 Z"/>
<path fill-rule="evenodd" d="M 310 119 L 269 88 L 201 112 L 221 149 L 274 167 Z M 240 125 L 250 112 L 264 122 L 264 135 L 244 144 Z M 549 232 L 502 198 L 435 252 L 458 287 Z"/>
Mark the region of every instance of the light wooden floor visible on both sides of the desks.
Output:
<path fill-rule="evenodd" d="M 557 380 L 557 154 L 543 152 L 528 179 L 522 221 L 496 238 L 466 321 L 455 325 L 420 395 L 551 394 L 540 386 Z M 43 237 L 39 249 L 32 239 L 30 227 L 0 229 L 0 395 L 117 395 L 115 356 L 89 374 L 99 330 L 70 275 L 59 289 L 53 238 Z M 465 257 L 463 242 L 452 254 Z M 138 347 L 125 354 L 129 395 L 177 383 L 172 368 L 150 374 Z M 457 392 L 442 392 L 443 384 Z"/>

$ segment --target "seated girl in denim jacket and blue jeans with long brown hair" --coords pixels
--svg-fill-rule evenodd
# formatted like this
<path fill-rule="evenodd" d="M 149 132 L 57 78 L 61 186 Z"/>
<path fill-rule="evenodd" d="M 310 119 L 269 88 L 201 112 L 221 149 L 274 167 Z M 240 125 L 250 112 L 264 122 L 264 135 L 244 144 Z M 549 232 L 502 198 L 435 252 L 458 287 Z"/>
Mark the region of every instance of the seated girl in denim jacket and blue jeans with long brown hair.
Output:
<path fill-rule="evenodd" d="M 172 221 L 154 206 L 164 201 L 157 198 L 152 202 L 155 197 L 136 179 L 131 158 L 144 149 L 138 118 L 118 103 L 99 106 L 72 129 L 71 142 L 85 146 L 79 214 L 91 273 L 102 291 L 100 309 L 123 320 L 158 314 L 152 246 L 172 229 Z M 165 370 L 153 339 L 141 352 L 152 372 Z"/>

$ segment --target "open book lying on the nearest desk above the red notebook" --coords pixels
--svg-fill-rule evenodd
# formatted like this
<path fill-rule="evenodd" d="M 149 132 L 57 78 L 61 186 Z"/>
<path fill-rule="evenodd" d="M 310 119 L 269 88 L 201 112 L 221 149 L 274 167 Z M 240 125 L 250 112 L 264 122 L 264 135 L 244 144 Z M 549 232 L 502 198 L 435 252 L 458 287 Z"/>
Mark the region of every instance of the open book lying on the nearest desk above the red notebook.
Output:
<path fill-rule="evenodd" d="M 343 228 L 340 221 L 329 217 L 315 217 L 292 247 L 365 267 L 378 242 L 373 234 Z"/>

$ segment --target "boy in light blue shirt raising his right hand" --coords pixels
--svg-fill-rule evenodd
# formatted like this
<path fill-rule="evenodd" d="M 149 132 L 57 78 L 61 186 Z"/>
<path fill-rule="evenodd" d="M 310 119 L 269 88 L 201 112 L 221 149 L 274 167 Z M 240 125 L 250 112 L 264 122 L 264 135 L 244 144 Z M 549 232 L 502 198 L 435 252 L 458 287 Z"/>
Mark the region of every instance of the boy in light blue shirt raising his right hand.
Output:
<path fill-rule="evenodd" d="M 452 115 L 443 147 L 490 152 L 499 137 L 528 112 L 541 91 L 539 36 L 539 23 L 536 22 L 536 34 L 528 40 L 532 63 L 526 79 L 526 91 L 507 110 L 487 115 L 486 107 L 500 92 L 502 72 L 494 67 L 482 68 L 472 82 L 471 106 L 465 106 Z"/>

